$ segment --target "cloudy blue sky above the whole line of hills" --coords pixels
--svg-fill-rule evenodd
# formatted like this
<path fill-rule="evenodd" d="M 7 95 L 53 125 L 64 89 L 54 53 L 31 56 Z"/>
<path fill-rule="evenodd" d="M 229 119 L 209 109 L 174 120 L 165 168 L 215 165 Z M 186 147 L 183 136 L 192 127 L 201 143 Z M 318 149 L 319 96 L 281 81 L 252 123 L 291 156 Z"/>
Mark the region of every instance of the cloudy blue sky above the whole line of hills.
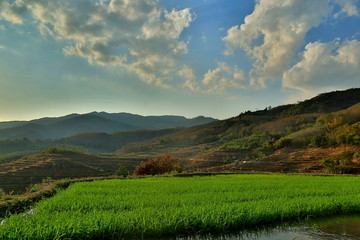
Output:
<path fill-rule="evenodd" d="M 225 119 L 360 87 L 360 0 L 0 0 L 0 121 Z"/>

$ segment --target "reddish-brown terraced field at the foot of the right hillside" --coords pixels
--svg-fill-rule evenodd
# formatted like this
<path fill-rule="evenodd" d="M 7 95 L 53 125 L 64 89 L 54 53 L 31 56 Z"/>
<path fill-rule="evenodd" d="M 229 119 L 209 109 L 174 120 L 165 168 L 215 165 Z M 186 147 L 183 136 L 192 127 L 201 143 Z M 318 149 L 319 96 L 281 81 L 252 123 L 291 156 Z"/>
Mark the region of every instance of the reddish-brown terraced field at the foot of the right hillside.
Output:
<path fill-rule="evenodd" d="M 345 151 L 360 152 L 360 146 L 340 146 L 329 148 L 282 148 L 263 158 L 241 156 L 242 152 L 217 151 L 199 155 L 194 162 L 207 164 L 207 171 L 242 171 L 273 173 L 324 173 L 321 161 L 330 157 L 336 159 Z M 230 161 L 226 161 L 230 159 Z M 216 162 L 217 160 L 217 162 Z M 221 160 L 223 164 L 221 164 Z M 225 163 L 228 162 L 228 163 Z M 210 165 L 213 163 L 213 165 Z M 360 157 L 352 159 L 352 173 L 360 173 Z"/>

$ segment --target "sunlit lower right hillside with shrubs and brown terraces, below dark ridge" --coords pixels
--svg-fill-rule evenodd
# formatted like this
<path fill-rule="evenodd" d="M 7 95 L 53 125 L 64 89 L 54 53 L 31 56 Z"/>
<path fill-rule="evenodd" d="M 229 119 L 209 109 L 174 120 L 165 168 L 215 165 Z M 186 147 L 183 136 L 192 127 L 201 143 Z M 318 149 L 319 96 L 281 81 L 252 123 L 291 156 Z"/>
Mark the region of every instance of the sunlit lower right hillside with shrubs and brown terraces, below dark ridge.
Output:
<path fill-rule="evenodd" d="M 208 171 L 360 173 L 360 103 L 314 116 L 260 124 L 251 135 L 223 139 L 222 145 L 197 154 L 189 164 Z M 324 159 L 330 161 L 328 167 Z"/>

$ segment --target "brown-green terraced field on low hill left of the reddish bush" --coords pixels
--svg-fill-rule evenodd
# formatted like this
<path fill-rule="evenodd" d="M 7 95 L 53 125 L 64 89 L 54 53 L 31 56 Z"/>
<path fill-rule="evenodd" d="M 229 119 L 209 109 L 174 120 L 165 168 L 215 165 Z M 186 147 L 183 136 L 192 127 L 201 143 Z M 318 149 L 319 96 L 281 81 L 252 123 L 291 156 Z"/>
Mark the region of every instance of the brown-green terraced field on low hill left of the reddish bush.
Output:
<path fill-rule="evenodd" d="M 21 193 L 45 178 L 81 178 L 114 174 L 120 166 L 133 169 L 145 158 L 117 158 L 106 155 L 36 154 L 0 164 L 0 186 L 6 192 Z"/>

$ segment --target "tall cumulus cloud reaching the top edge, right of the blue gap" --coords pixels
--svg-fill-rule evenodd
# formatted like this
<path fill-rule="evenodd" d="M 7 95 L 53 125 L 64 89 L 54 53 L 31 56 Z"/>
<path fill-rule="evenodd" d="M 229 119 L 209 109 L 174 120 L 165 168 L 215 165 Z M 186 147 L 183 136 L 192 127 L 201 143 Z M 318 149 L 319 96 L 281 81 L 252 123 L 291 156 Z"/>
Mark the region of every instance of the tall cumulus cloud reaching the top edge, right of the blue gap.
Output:
<path fill-rule="evenodd" d="M 267 79 L 281 79 L 307 32 L 329 17 L 334 4 L 341 7 L 337 14 L 357 14 L 352 0 L 258 0 L 244 24 L 227 31 L 225 54 L 245 50 L 254 60 L 251 84 L 265 87 Z"/>

